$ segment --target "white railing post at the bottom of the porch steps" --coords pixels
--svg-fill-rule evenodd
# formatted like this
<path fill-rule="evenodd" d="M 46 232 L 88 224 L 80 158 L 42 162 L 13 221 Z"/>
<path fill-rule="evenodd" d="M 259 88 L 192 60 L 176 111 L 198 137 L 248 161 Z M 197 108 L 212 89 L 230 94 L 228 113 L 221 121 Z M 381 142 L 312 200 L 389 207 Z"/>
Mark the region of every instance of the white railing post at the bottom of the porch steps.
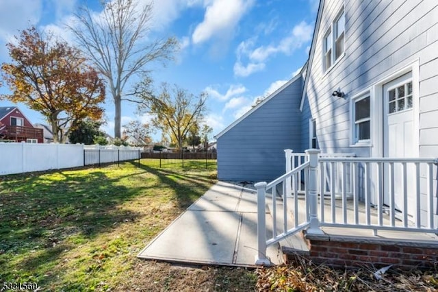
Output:
<path fill-rule="evenodd" d="M 270 265 L 266 257 L 266 182 L 257 182 L 257 255 L 255 265 Z"/>

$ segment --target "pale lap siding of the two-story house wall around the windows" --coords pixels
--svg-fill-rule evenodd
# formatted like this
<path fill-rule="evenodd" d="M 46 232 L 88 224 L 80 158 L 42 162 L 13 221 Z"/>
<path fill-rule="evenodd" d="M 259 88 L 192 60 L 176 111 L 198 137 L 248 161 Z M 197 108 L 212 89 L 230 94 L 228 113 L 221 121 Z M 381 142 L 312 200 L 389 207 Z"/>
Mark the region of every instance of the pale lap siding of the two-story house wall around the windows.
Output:
<path fill-rule="evenodd" d="M 322 38 L 342 5 L 346 13 L 345 55 L 324 73 Z M 320 23 L 306 93 L 313 117 L 320 123 L 317 134 L 322 151 L 370 156 L 370 147 L 350 147 L 349 98 L 417 60 L 420 66 L 419 117 L 415 117 L 420 131 L 418 153 L 422 157 L 437 157 L 438 1 L 326 0 Z M 337 88 L 346 93 L 346 99 L 331 96 Z M 422 190 L 424 184 L 425 179 Z"/>

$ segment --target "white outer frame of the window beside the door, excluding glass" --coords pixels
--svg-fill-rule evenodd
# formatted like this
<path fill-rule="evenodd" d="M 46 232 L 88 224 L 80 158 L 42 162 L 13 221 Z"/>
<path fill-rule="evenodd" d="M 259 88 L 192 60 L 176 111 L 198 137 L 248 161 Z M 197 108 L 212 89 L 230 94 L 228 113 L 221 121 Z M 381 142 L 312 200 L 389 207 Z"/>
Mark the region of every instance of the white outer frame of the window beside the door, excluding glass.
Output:
<path fill-rule="evenodd" d="M 370 99 L 370 117 L 361 119 L 359 123 L 363 123 L 366 121 L 370 121 L 370 138 L 366 140 L 359 140 L 357 138 L 357 124 L 356 121 L 356 103 L 365 98 Z M 373 126 L 373 109 L 372 109 L 372 100 L 373 97 L 371 95 L 371 90 L 367 88 L 366 90 L 361 91 L 357 95 L 353 96 L 350 99 L 350 147 L 370 147 L 372 146 L 372 126 Z"/>

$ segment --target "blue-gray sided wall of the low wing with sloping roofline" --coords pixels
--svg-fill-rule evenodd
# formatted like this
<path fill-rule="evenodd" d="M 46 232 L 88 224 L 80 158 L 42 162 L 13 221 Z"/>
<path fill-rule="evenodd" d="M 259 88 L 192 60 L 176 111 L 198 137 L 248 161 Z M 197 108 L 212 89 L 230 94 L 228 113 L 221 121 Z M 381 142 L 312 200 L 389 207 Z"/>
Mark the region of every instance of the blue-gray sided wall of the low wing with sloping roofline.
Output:
<path fill-rule="evenodd" d="M 270 181 L 285 173 L 284 149 L 301 149 L 301 94 L 297 78 L 218 137 L 219 180 Z"/>

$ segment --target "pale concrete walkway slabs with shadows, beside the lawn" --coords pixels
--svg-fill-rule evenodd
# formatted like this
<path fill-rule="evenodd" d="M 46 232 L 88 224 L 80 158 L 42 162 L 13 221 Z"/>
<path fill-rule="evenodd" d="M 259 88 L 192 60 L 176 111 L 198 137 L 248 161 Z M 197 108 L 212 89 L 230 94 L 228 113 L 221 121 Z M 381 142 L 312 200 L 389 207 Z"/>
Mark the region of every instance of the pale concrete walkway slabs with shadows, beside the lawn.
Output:
<path fill-rule="evenodd" d="M 267 235 L 272 235 L 272 231 L 268 230 Z M 138 257 L 179 263 L 254 266 L 256 254 L 255 191 L 218 182 L 170 223 Z M 267 256 L 274 265 L 283 263 L 279 245 L 268 247 Z"/>

